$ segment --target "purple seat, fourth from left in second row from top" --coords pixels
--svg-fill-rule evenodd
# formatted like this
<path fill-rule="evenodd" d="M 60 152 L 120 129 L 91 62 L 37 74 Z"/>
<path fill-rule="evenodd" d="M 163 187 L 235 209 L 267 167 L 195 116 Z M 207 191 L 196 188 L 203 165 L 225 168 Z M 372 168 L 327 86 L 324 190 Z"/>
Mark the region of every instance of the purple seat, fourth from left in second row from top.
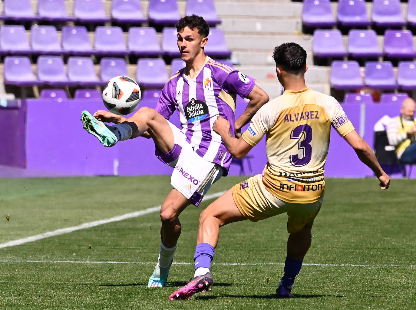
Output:
<path fill-rule="evenodd" d="M 98 26 L 95 28 L 95 54 L 123 56 L 130 52 L 127 50 L 121 27 Z"/>

